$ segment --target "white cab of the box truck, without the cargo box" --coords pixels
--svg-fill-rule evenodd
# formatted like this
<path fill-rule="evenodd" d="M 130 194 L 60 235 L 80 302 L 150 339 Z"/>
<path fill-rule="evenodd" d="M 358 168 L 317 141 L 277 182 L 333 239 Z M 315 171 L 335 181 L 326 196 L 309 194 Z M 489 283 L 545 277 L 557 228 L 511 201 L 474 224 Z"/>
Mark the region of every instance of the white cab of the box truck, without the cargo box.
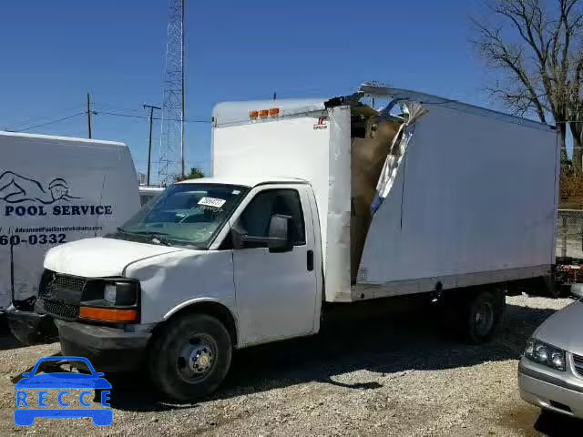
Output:
<path fill-rule="evenodd" d="M 229 368 L 230 345 L 319 330 L 319 235 L 312 187 L 301 179 L 179 182 L 107 238 L 51 250 L 44 278 L 49 285 L 44 290 L 50 291 L 36 310 L 60 319 L 64 353 L 80 353 L 105 371 L 132 369 L 144 359 L 157 326 L 199 320 L 192 311 L 205 310 L 222 323 L 214 327 L 216 337 L 186 338 L 188 332 L 177 328 L 179 338 L 171 339 L 182 340 L 173 343 L 183 365 L 175 377 L 198 380 L 214 361 L 220 369 Z M 61 284 L 69 294 L 75 288 L 75 297 L 66 300 Z M 96 329 L 76 320 L 138 324 Z M 169 378 L 165 371 L 157 374 Z M 219 372 L 205 386 L 212 389 L 222 377 Z M 159 381 L 169 394 L 192 396 L 175 384 Z"/>

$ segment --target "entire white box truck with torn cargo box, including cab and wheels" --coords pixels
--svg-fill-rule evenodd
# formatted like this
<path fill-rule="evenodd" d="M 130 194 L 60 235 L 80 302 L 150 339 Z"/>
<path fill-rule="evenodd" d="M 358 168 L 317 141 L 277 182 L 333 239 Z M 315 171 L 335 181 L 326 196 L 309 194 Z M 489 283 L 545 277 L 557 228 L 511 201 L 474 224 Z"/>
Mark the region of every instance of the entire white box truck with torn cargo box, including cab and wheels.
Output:
<path fill-rule="evenodd" d="M 481 342 L 504 290 L 551 272 L 552 127 L 365 85 L 220 104 L 212 135 L 212 178 L 47 253 L 36 310 L 64 354 L 101 371 L 147 361 L 161 391 L 190 400 L 233 349 L 315 334 L 336 302 L 425 293 Z"/>

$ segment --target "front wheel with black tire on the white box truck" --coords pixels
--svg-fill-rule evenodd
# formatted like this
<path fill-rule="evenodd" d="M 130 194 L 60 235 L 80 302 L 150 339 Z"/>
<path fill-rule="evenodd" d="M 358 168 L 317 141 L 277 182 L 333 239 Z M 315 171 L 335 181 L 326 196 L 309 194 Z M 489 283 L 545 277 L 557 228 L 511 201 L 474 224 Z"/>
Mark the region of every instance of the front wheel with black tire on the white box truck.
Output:
<path fill-rule="evenodd" d="M 185 360 L 188 348 L 194 349 L 190 357 L 203 351 L 207 371 L 199 375 L 199 362 Z M 150 378 L 175 401 L 197 401 L 219 387 L 229 371 L 231 355 L 229 331 L 219 320 L 207 314 L 185 314 L 171 320 L 154 338 L 148 356 Z"/>

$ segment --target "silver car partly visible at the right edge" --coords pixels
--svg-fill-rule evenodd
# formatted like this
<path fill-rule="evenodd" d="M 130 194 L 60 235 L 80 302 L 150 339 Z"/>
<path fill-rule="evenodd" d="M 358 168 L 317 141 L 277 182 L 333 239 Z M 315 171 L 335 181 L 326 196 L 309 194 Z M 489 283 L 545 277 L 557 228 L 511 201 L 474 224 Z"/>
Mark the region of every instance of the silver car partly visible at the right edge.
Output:
<path fill-rule="evenodd" d="M 583 298 L 583 284 L 571 290 Z M 540 325 L 518 365 L 520 397 L 545 410 L 583 419 L 583 302 Z"/>

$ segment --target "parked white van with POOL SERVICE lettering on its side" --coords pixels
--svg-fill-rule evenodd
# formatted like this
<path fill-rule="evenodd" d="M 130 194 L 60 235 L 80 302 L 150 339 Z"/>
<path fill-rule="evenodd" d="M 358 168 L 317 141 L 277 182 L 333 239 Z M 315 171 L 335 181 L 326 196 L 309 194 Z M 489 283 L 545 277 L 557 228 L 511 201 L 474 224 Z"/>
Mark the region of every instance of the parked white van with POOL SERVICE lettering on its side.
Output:
<path fill-rule="evenodd" d="M 0 310 L 29 310 L 46 250 L 115 231 L 140 208 L 122 143 L 0 132 Z"/>

